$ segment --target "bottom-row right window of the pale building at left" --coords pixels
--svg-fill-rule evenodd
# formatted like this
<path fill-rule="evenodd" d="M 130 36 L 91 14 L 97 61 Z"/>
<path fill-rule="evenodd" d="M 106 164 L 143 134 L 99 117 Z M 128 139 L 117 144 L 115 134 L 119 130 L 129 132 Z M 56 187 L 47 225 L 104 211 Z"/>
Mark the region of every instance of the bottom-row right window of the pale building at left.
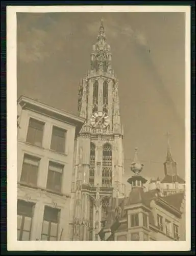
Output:
<path fill-rule="evenodd" d="M 60 210 L 49 206 L 44 208 L 41 240 L 57 241 Z"/>

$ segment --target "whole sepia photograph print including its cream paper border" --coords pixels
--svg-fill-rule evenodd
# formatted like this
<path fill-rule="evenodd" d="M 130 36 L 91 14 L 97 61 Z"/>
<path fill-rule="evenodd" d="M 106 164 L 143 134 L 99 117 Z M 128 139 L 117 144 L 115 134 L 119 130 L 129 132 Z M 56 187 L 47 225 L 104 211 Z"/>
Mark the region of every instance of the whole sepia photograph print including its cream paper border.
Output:
<path fill-rule="evenodd" d="M 189 7 L 7 11 L 10 250 L 189 250 Z"/>

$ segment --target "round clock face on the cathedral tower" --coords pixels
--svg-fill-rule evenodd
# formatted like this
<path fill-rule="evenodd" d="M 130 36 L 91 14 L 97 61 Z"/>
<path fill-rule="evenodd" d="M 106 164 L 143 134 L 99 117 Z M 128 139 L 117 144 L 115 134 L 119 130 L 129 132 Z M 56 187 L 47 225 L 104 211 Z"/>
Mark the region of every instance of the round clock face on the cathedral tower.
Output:
<path fill-rule="evenodd" d="M 90 124 L 94 128 L 103 129 L 110 123 L 109 116 L 102 111 L 94 112 L 90 118 Z"/>

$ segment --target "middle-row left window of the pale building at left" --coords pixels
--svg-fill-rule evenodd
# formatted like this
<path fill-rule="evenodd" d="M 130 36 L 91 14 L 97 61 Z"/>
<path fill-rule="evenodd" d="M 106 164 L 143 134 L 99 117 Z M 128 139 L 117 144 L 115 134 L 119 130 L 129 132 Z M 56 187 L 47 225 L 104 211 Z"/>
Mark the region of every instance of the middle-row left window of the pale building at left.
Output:
<path fill-rule="evenodd" d="M 24 155 L 21 178 L 20 178 L 21 182 L 24 182 L 32 186 L 37 185 L 39 162 L 40 162 L 40 158 L 26 155 L 26 154 Z"/>

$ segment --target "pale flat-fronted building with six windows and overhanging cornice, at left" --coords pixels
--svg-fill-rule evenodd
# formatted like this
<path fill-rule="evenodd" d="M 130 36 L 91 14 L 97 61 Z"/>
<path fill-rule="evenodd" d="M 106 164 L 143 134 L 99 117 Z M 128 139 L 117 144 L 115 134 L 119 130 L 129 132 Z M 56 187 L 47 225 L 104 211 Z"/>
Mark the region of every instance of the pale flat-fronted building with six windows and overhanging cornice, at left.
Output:
<path fill-rule="evenodd" d="M 84 119 L 18 99 L 17 240 L 68 240 L 74 141 Z"/>

